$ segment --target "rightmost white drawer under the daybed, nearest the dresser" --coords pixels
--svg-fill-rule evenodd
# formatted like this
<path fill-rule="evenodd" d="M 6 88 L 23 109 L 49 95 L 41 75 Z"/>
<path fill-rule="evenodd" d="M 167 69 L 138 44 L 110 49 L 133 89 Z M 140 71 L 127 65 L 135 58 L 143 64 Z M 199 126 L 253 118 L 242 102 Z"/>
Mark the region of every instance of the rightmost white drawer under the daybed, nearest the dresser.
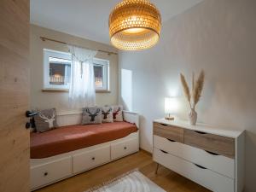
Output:
<path fill-rule="evenodd" d="M 116 160 L 125 155 L 137 152 L 139 150 L 138 146 L 137 137 L 124 142 L 111 144 L 111 160 Z"/>

